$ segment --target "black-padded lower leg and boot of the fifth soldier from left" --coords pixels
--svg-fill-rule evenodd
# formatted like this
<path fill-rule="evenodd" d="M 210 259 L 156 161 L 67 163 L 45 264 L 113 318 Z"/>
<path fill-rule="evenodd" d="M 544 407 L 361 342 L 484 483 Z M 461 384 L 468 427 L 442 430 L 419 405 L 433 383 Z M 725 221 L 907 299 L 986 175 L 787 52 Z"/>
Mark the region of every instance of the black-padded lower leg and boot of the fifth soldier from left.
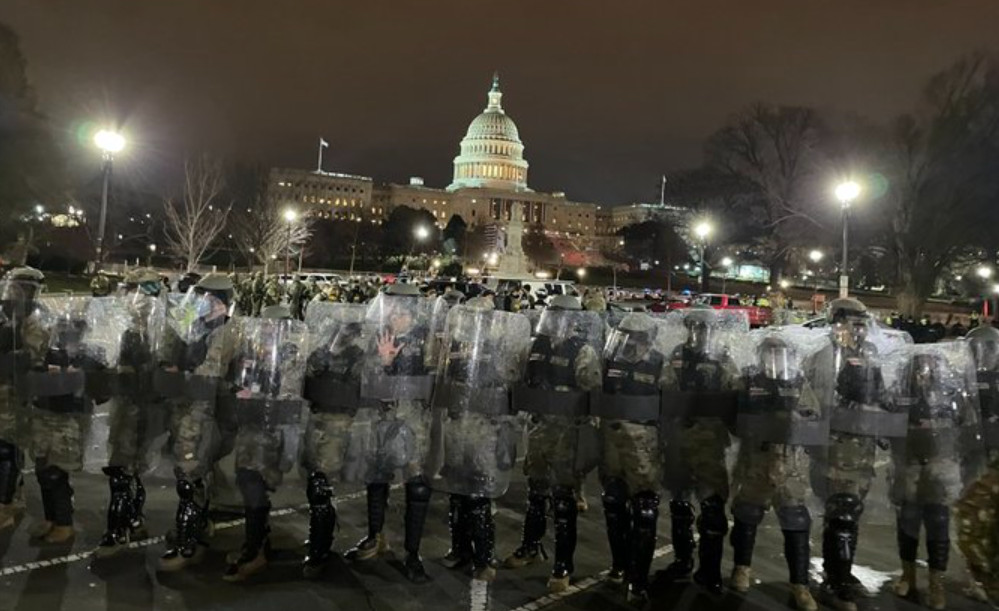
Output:
<path fill-rule="evenodd" d="M 236 485 L 243 497 L 243 549 L 226 569 L 226 581 L 244 581 L 267 568 L 268 516 L 271 510 L 270 490 L 263 474 L 256 469 L 236 467 Z"/>

